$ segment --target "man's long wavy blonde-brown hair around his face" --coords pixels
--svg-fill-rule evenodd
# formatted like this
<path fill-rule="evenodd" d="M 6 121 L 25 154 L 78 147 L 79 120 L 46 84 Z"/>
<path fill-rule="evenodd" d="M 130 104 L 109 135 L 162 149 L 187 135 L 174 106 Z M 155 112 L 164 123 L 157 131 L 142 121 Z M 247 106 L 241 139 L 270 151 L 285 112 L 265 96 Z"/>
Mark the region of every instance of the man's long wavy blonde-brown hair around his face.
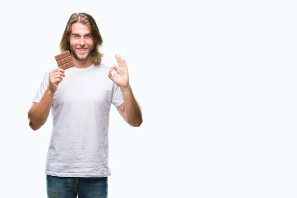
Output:
<path fill-rule="evenodd" d="M 71 26 L 74 23 L 82 23 L 90 27 L 94 41 L 94 49 L 91 51 L 91 59 L 94 61 L 95 65 L 99 65 L 103 57 L 103 54 L 99 52 L 99 48 L 102 46 L 103 40 L 100 35 L 99 28 L 97 26 L 95 19 L 87 13 L 81 12 L 71 14 L 60 42 L 61 53 L 67 50 L 71 52 L 69 38 L 71 35 Z"/>

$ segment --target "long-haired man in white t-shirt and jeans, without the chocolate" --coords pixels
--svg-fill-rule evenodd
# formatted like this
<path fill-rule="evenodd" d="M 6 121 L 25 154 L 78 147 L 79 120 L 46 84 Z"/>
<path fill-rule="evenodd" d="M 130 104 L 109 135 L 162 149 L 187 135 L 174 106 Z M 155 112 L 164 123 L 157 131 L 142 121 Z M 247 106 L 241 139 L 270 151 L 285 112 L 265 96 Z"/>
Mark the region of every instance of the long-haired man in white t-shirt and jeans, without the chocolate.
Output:
<path fill-rule="evenodd" d="M 113 104 L 131 126 L 142 113 L 128 77 L 127 62 L 101 64 L 102 38 L 96 21 L 86 13 L 70 16 L 60 42 L 75 64 L 51 69 L 40 84 L 28 112 L 33 130 L 52 113 L 53 129 L 46 163 L 47 194 L 57 198 L 107 198 L 108 125 Z"/>

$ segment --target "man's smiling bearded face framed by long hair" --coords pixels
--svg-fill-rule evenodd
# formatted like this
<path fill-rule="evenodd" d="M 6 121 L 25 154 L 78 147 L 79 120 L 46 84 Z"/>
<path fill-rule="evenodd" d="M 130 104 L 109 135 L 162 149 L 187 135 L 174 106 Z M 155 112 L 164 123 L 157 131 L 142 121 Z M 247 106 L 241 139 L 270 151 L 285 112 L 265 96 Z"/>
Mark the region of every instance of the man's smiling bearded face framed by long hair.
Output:
<path fill-rule="evenodd" d="M 76 60 L 80 62 L 91 60 L 94 42 L 88 25 L 82 23 L 72 24 L 69 41 L 71 54 Z"/>

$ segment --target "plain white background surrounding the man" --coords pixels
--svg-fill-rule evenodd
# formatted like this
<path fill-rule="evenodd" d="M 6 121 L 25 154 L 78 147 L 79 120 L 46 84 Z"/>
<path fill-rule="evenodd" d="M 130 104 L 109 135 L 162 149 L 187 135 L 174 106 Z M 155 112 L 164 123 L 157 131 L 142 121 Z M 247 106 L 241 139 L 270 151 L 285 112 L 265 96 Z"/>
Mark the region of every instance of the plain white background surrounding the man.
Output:
<path fill-rule="evenodd" d="M 2 2 L 0 197 L 46 197 L 51 115 L 33 131 L 27 113 L 70 15 L 87 12 L 143 109 L 140 128 L 111 109 L 109 198 L 296 198 L 294 2 Z"/>

